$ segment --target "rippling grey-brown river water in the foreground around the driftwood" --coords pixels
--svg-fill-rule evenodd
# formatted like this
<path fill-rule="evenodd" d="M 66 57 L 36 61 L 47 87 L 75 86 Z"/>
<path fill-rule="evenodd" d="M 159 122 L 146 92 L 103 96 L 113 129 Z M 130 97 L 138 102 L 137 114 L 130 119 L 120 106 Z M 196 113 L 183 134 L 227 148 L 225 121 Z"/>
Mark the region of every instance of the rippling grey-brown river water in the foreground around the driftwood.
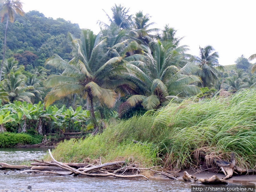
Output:
<path fill-rule="evenodd" d="M 46 149 L 42 148 L 0 148 L 0 162 L 22 165 L 31 159 L 42 159 Z M 120 179 L 111 177 L 51 176 L 0 170 L 0 189 L 32 189 L 68 191 L 169 191 L 191 192 L 191 184 L 182 181 L 145 181 L 144 179 Z"/>

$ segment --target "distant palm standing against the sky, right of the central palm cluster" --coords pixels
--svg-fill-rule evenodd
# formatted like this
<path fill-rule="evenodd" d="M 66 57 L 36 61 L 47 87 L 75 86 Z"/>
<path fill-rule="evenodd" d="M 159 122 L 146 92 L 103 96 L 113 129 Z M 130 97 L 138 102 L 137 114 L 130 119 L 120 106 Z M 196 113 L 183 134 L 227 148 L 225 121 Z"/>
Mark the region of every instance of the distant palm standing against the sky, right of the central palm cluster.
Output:
<path fill-rule="evenodd" d="M 200 56 L 195 56 L 195 60 L 202 70 L 199 70 L 197 75 L 202 79 L 202 87 L 212 87 L 220 75 L 217 69 L 223 70 L 223 66 L 218 62 L 219 54 L 211 45 L 199 47 L 199 50 Z"/>

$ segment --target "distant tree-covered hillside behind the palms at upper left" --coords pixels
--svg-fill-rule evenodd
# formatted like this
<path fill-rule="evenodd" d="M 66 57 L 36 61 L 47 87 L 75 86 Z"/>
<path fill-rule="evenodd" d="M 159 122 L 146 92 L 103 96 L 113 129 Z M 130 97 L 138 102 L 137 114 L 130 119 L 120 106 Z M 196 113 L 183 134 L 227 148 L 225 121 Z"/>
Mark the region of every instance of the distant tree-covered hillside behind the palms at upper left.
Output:
<path fill-rule="evenodd" d="M 5 29 L 6 21 L 0 23 Z M 38 11 L 30 11 L 25 16 L 16 15 L 15 22 L 9 23 L 7 51 L 5 58 L 14 57 L 19 65 L 29 71 L 44 66 L 46 59 L 58 53 L 63 59 L 71 59 L 71 47 L 68 46 L 68 32 L 80 37 L 78 24 L 64 19 L 46 18 Z M 3 50 L 4 30 L 0 31 L 0 49 Z M 0 52 L 0 58 L 3 52 Z"/>

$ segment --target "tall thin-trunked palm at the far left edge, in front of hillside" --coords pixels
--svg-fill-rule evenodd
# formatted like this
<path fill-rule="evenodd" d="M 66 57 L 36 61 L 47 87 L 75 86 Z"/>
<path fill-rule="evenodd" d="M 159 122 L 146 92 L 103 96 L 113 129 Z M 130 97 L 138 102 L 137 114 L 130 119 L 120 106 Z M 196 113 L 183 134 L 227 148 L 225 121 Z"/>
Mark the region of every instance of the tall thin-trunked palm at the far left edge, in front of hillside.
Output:
<path fill-rule="evenodd" d="M 8 22 L 14 22 L 14 16 L 15 14 L 24 15 L 24 11 L 22 10 L 22 3 L 20 0 L 0 0 L 0 16 L 1 16 L 1 22 L 4 21 L 6 18 L 6 27 L 5 27 L 5 36 L 4 36 L 4 53 L 3 53 L 3 61 L 1 64 L 1 70 L 0 70 L 0 81 L 2 77 L 2 70 L 4 65 L 4 59 L 5 59 L 5 49 L 6 49 L 6 37 L 7 37 L 7 29 L 8 29 Z"/>

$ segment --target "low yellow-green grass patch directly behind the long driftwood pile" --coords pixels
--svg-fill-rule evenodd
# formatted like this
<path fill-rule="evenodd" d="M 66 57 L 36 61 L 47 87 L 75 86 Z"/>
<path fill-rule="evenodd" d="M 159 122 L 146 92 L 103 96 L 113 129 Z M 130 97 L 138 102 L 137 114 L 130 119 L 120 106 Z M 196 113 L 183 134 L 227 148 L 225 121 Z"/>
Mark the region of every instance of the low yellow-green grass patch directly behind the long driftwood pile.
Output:
<path fill-rule="evenodd" d="M 141 166 L 153 166 L 157 150 L 153 144 L 133 142 L 112 142 L 102 140 L 101 135 L 86 139 L 71 139 L 60 143 L 53 151 L 54 158 L 61 162 L 131 161 Z M 49 159 L 49 157 L 48 157 Z"/>

